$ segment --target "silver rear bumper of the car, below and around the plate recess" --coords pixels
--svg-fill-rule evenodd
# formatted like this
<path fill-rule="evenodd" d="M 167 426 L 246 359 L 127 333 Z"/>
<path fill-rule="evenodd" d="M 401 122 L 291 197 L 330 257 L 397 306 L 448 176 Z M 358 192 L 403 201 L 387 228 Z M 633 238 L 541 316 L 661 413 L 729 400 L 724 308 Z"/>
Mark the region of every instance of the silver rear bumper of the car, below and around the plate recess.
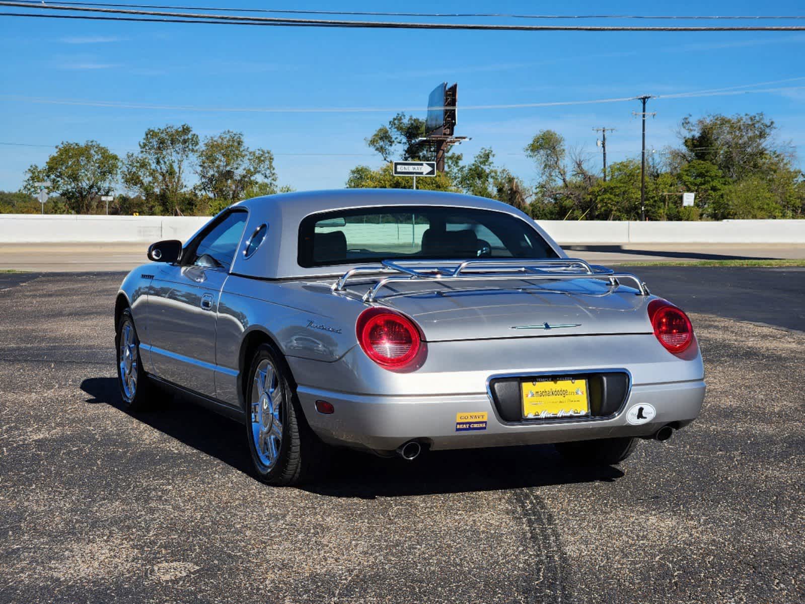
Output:
<path fill-rule="evenodd" d="M 666 424 L 682 426 L 696 419 L 704 389 L 703 380 L 634 384 L 615 416 L 542 424 L 503 421 L 489 395 L 346 395 L 304 386 L 299 387 L 298 394 L 308 423 L 325 442 L 390 451 L 411 439 L 424 441 L 431 449 L 470 449 L 650 436 Z M 316 412 L 318 399 L 332 403 L 335 412 Z M 645 403 L 656 409 L 654 420 L 630 424 L 626 420 L 629 409 Z M 487 414 L 485 429 L 456 431 L 457 414 L 478 412 Z"/>

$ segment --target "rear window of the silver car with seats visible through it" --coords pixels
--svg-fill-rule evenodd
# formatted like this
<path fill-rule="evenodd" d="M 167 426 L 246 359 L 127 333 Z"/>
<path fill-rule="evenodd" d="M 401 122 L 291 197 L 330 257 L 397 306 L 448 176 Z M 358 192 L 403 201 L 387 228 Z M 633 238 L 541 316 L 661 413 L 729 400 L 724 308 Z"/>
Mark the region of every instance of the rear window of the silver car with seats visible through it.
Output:
<path fill-rule="evenodd" d="M 299 225 L 299 266 L 386 259 L 544 259 L 554 250 L 526 222 L 504 212 L 434 206 L 336 210 Z"/>

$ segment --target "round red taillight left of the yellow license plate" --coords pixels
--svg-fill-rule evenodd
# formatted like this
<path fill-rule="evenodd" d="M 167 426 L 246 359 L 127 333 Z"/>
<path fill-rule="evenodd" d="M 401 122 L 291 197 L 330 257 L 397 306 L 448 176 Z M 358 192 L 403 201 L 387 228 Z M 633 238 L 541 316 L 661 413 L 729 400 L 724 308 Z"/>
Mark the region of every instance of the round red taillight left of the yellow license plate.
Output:
<path fill-rule="evenodd" d="M 355 331 L 366 356 L 389 369 L 407 366 L 423 347 L 414 322 L 386 308 L 367 308 L 361 312 Z"/>

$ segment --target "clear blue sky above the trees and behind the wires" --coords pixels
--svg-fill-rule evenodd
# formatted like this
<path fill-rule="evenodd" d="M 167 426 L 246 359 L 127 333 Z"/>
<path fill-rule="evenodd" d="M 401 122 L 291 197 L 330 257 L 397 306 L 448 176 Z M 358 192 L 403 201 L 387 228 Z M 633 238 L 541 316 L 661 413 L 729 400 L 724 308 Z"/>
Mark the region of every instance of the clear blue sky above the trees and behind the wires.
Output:
<path fill-rule="evenodd" d="M 169 3 L 138 3 L 148 2 Z M 215 0 L 192 3 L 266 7 L 264 2 L 250 0 L 231 5 Z M 270 6 L 331 10 L 404 6 L 426 12 L 491 9 L 531 14 L 803 14 L 800 2 L 644 6 L 644 2 L 322 0 L 272 2 Z M 519 23 L 516 19 L 474 21 Z M 720 22 L 728 23 L 736 22 Z M 763 23 L 805 25 L 805 21 Z M 460 147 L 464 157 L 492 147 L 497 163 L 526 183 L 534 182 L 535 172 L 522 148 L 544 128 L 563 134 L 569 145 L 589 155 L 593 166 L 600 166 L 593 127 L 617 129 L 608 136 L 609 162 L 639 156 L 640 122 L 632 115 L 639 110 L 638 101 L 497 110 L 462 110 L 462 106 L 742 89 L 803 78 L 754 87 L 783 88 L 770 93 L 652 99 L 648 108 L 657 115 L 648 122 L 647 147 L 660 151 L 675 143 L 675 130 L 687 114 L 763 111 L 780 126 L 780 138 L 791 140 L 800 155 L 805 153 L 805 32 L 384 31 L 6 17 L 0 18 L 0 49 L 5 58 L 0 62 L 0 143 L 52 145 L 96 139 L 125 155 L 136 150 L 148 127 L 187 122 L 202 136 L 239 130 L 250 146 L 273 151 L 280 184 L 299 190 L 341 188 L 349 169 L 358 163 L 379 166 L 381 160 L 365 146 L 365 137 L 387 122 L 394 109 L 420 108 L 409 113 L 424 117 L 427 94 L 440 81 L 459 85 L 456 134 L 472 137 Z M 228 109 L 391 110 L 255 113 L 63 105 L 14 97 Z M 27 166 L 43 163 L 50 151 L 0 145 L 0 189 L 19 188 Z"/>

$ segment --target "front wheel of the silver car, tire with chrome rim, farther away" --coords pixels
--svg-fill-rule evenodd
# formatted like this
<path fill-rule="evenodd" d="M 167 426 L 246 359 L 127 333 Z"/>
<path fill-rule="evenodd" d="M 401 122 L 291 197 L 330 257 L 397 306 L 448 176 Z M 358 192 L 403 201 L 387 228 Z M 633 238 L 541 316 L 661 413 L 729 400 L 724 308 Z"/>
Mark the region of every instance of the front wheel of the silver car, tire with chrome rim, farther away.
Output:
<path fill-rule="evenodd" d="M 140 339 L 130 308 L 126 308 L 118 319 L 114 348 L 117 354 L 118 387 L 122 408 L 126 412 L 153 409 L 156 406 L 155 389 L 142 367 Z"/>

